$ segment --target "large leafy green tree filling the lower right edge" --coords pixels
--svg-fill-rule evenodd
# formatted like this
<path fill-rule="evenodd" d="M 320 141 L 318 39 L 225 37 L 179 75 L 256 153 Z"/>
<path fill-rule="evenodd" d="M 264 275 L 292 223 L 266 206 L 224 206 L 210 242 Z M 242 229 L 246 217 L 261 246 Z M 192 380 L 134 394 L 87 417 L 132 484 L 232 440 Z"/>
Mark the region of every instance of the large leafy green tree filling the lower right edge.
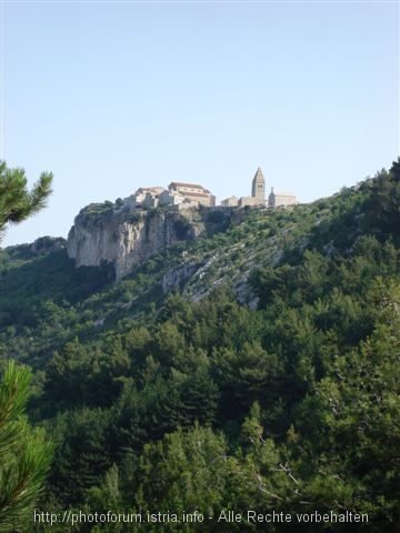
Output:
<path fill-rule="evenodd" d="M 381 291 L 372 334 L 332 358 L 327 375 L 298 405 L 291 439 L 307 480 L 299 499 L 308 503 L 301 505 L 367 513 L 370 523 L 359 531 L 379 533 L 396 531 L 400 517 L 400 288 Z"/>

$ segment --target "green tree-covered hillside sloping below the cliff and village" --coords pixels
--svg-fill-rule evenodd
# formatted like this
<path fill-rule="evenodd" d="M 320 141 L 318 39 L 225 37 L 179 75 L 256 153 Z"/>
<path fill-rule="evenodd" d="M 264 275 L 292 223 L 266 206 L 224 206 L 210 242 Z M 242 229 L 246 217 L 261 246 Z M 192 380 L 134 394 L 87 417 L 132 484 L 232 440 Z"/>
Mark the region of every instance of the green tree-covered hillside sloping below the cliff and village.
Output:
<path fill-rule="evenodd" d="M 398 531 L 400 163 L 242 213 L 117 285 L 50 241 L 1 252 L 2 353 L 33 368 L 29 414 L 56 443 L 38 509 L 207 516 L 146 531 Z M 201 275 L 164 295 L 182 258 Z M 217 522 L 229 510 L 293 520 Z M 294 520 L 314 511 L 369 523 Z"/>

